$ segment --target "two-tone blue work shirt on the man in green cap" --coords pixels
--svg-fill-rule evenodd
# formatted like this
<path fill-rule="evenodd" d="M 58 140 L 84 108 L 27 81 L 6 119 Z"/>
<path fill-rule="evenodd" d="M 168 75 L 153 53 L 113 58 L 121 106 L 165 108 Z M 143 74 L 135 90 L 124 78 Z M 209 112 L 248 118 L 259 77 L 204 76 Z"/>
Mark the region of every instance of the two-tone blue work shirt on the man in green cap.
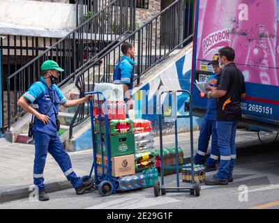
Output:
<path fill-rule="evenodd" d="M 47 82 L 45 82 L 45 79 L 41 77 L 40 82 L 32 84 L 28 91 L 22 96 L 27 98 L 27 100 L 34 105 L 34 108 L 40 114 L 45 114 L 50 117 L 50 123 L 47 123 L 46 125 L 35 117 L 33 130 L 56 136 L 57 128 L 54 112 L 57 116 L 59 112 L 59 104 L 63 105 L 67 102 L 66 97 L 60 91 L 58 86 L 56 84 L 52 84 L 51 87 L 47 87 Z"/>

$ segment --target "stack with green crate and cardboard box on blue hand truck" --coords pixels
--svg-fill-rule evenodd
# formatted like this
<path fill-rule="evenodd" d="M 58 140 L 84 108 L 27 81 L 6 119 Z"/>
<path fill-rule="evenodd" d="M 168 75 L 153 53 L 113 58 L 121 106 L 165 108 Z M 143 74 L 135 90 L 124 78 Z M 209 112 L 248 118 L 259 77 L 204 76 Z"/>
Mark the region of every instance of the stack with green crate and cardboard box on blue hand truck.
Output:
<path fill-rule="evenodd" d="M 100 111 L 98 109 L 100 103 Z M 109 121 L 110 156 L 112 164 L 112 176 L 126 176 L 135 174 L 135 135 L 133 132 L 133 122 L 126 118 L 126 105 L 124 101 L 116 101 L 114 98 L 104 103 L 102 100 L 95 100 L 93 106 L 93 116 L 105 117 L 105 106 L 107 106 L 107 116 Z M 102 151 L 104 162 L 107 165 L 107 146 L 105 136 L 105 121 L 94 120 L 95 139 L 103 141 L 103 144 L 96 143 L 97 164 L 102 164 Z M 102 134 L 100 134 L 102 132 Z M 97 168 L 98 173 L 102 173 L 101 167 Z M 106 174 L 106 169 L 104 174 Z"/>

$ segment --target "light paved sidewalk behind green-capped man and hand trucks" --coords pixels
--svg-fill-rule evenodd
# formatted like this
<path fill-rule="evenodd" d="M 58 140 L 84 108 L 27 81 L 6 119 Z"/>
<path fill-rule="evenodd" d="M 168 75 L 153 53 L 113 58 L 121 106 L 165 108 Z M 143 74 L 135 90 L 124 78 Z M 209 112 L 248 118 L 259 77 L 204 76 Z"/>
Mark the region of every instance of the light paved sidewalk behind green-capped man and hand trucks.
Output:
<path fill-rule="evenodd" d="M 197 148 L 199 131 L 194 132 L 194 148 Z M 273 134 L 261 133 L 262 140 L 271 142 Z M 179 146 L 183 149 L 184 158 L 190 157 L 190 134 L 181 133 L 178 136 Z M 174 146 L 174 135 L 163 137 L 165 146 Z M 238 130 L 236 134 L 236 147 L 259 145 L 257 132 Z M 156 148 L 159 148 L 159 137 L 155 140 Z M 210 144 L 209 144 L 210 147 Z M 33 184 L 33 158 L 34 145 L 11 144 L 5 139 L 0 139 L 0 203 L 23 199 L 29 197 L 30 185 Z M 68 153 L 73 164 L 73 169 L 79 176 L 89 175 L 91 169 L 93 152 L 92 150 Z M 194 153 L 195 154 L 195 153 Z M 188 159 L 187 159 L 188 161 Z M 71 187 L 63 175 L 59 165 L 53 157 L 48 154 L 45 164 L 44 178 L 47 192 L 66 190 Z"/>

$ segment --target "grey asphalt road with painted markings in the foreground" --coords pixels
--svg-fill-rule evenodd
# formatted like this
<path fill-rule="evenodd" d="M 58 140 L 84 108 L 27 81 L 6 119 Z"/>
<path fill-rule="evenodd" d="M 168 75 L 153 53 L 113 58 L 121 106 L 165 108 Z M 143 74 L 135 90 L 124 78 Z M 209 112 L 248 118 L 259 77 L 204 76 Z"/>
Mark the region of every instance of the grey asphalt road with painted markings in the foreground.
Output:
<path fill-rule="evenodd" d="M 50 201 L 29 199 L 1 203 L 0 209 L 179 209 L 179 208 L 275 208 L 279 209 L 279 144 L 242 148 L 238 151 L 234 182 L 229 185 L 202 184 L 200 197 L 186 193 L 167 193 L 154 197 L 153 188 L 101 197 L 98 191 L 77 196 L 73 189 L 54 192 Z M 206 174 L 212 176 L 216 171 Z M 166 186 L 175 185 L 175 175 L 165 178 Z M 183 187 L 190 184 L 181 183 Z"/>

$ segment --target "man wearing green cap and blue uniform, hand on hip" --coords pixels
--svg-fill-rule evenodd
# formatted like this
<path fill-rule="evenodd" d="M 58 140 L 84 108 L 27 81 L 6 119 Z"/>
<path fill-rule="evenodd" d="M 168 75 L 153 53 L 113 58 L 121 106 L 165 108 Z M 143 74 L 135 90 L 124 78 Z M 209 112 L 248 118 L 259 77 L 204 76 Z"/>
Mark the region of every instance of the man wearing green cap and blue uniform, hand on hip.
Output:
<path fill-rule="evenodd" d="M 17 105 L 35 117 L 33 127 L 33 137 L 35 139 L 35 160 L 33 166 L 33 183 L 38 186 L 39 200 L 50 199 L 45 193 L 43 169 L 47 152 L 49 152 L 56 162 L 58 162 L 64 175 L 77 194 L 84 194 L 93 186 L 93 179 L 82 181 L 73 171 L 70 157 L 66 153 L 57 133 L 58 123 L 56 123 L 59 112 L 59 105 L 72 107 L 87 102 L 91 95 L 77 100 L 67 100 L 56 85 L 56 81 L 63 72 L 55 61 L 45 61 L 41 66 L 43 77 L 39 82 L 32 84 L 30 89 L 17 101 Z M 33 107 L 30 106 L 33 104 Z"/>

